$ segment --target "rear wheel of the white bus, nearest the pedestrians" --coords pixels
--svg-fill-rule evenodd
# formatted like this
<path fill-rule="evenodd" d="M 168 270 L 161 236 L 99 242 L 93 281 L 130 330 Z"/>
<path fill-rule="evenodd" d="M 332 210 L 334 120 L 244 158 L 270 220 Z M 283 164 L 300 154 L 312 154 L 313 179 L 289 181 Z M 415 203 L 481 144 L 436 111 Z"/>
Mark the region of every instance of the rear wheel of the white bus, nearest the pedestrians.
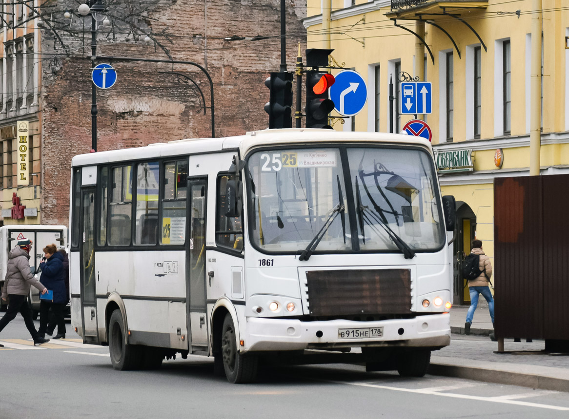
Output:
<path fill-rule="evenodd" d="M 141 347 L 125 343 L 121 311 L 116 309 L 109 321 L 109 354 L 113 368 L 119 371 L 136 370 L 142 366 Z"/>

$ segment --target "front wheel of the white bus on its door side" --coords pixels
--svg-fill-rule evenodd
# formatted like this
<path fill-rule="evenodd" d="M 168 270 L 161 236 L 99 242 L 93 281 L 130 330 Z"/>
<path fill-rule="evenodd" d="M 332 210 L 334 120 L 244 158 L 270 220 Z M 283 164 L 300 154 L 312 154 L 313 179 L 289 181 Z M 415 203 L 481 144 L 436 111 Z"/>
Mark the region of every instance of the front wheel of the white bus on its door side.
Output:
<path fill-rule="evenodd" d="M 221 329 L 221 355 L 225 376 L 233 384 L 251 383 L 257 377 L 258 357 L 253 354 L 241 354 L 237 348 L 235 326 L 228 313 Z"/>

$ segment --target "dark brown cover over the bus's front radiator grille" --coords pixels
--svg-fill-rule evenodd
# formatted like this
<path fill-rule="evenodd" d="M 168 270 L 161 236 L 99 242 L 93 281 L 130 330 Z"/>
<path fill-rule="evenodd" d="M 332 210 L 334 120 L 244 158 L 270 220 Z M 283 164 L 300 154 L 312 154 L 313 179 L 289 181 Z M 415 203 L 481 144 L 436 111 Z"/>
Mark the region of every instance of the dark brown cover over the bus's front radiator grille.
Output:
<path fill-rule="evenodd" d="M 307 271 L 311 316 L 407 314 L 409 269 Z"/>

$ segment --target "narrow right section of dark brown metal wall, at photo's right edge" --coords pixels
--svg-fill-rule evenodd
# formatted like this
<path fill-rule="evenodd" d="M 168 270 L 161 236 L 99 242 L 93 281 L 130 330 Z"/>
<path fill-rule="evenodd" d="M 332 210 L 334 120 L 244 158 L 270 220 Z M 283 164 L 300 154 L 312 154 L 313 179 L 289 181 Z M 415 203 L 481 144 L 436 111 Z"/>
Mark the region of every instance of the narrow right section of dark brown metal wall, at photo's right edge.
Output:
<path fill-rule="evenodd" d="M 542 178 L 545 338 L 569 340 L 569 175 Z"/>

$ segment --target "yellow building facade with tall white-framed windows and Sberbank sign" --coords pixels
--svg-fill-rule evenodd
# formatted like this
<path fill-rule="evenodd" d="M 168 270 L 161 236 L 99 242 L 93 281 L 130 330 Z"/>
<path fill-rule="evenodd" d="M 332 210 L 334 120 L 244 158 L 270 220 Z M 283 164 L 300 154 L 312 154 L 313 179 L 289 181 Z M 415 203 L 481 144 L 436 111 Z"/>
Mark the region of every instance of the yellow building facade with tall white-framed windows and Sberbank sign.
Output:
<path fill-rule="evenodd" d="M 493 261 L 494 178 L 530 175 L 532 159 L 542 175 L 569 173 L 569 5 L 308 0 L 304 26 L 308 48 L 333 49 L 339 65 L 366 81 L 365 107 L 344 124 L 336 120 L 335 129 L 390 132 L 392 125 L 400 132 L 415 115 L 401 114 L 399 82 L 431 83 L 432 112 L 424 119 L 442 193 L 457 201 L 454 302 L 468 303 L 461 254 L 476 237 Z M 540 93 L 533 99 L 532 82 Z"/>

